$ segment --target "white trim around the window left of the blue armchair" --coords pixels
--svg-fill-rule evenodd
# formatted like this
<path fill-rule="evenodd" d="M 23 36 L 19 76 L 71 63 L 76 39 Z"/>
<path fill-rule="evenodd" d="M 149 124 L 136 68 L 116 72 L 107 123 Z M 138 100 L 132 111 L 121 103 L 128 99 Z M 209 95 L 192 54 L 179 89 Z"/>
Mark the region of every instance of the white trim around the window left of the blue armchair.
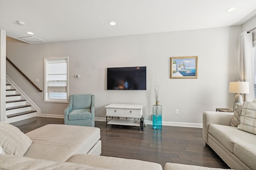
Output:
<path fill-rule="evenodd" d="M 66 60 L 67 61 L 67 98 L 65 100 L 61 99 L 49 99 L 47 94 L 47 63 L 50 60 Z M 68 103 L 68 57 L 55 57 L 55 58 L 45 58 L 44 59 L 44 102 L 54 102 L 54 103 Z"/>

